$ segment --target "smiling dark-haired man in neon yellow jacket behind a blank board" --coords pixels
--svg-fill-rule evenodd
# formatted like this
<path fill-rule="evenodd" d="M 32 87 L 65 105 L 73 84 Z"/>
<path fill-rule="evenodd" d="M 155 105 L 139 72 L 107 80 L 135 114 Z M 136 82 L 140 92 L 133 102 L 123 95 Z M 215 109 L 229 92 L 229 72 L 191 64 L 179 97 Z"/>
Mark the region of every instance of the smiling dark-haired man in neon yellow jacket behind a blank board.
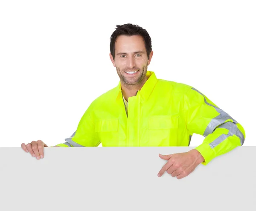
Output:
<path fill-rule="evenodd" d="M 200 164 L 244 143 L 244 128 L 204 94 L 186 84 L 157 79 L 148 71 L 153 51 L 148 32 L 133 24 L 117 25 L 111 35 L 110 59 L 120 82 L 96 98 L 77 130 L 58 147 L 189 146 L 193 133 L 204 142 L 185 153 L 161 155 L 159 171 L 181 179 Z M 43 158 L 38 140 L 21 147 Z"/>

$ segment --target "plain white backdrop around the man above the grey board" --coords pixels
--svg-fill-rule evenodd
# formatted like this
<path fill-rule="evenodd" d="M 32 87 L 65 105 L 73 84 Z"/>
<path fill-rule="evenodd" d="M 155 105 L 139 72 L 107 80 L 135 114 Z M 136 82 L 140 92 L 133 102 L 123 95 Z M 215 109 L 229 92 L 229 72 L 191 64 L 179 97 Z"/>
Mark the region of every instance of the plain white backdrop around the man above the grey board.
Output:
<path fill-rule="evenodd" d="M 255 11 L 248 0 L 0 1 L 0 147 L 65 142 L 119 82 L 109 45 L 124 23 L 151 36 L 148 70 L 204 93 L 255 146 Z"/>

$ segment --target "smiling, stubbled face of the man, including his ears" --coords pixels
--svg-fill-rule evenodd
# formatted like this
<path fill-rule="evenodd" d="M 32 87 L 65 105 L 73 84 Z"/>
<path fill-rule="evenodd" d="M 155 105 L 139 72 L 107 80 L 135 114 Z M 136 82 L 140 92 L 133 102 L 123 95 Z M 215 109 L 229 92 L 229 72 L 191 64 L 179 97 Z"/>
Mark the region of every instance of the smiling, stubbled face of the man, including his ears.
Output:
<path fill-rule="evenodd" d="M 140 35 L 118 36 L 115 43 L 115 60 L 113 61 L 112 58 L 111 61 L 124 84 L 140 84 L 144 81 L 150 63 L 143 37 Z"/>

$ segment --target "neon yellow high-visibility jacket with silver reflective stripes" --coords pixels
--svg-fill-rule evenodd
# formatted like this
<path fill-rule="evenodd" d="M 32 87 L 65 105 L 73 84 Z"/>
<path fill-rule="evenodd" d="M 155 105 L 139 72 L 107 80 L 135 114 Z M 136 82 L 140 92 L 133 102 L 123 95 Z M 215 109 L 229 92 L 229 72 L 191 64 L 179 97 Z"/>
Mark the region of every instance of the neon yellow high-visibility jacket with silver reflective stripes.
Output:
<path fill-rule="evenodd" d="M 60 147 L 189 146 L 193 133 L 205 137 L 195 147 L 204 165 L 244 143 L 244 128 L 186 84 L 148 80 L 128 98 L 128 112 L 121 84 L 96 98 L 79 121 L 77 130 Z"/>

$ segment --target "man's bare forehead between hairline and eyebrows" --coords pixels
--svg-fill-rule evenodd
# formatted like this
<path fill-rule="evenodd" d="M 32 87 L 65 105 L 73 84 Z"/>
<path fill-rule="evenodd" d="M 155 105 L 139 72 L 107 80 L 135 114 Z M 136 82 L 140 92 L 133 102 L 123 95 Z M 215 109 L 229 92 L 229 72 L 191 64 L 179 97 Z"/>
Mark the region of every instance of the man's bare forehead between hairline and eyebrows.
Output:
<path fill-rule="evenodd" d="M 119 35 L 116 38 L 115 53 L 118 52 L 130 52 L 130 51 L 145 51 L 145 43 L 143 37 L 140 35 Z"/>

